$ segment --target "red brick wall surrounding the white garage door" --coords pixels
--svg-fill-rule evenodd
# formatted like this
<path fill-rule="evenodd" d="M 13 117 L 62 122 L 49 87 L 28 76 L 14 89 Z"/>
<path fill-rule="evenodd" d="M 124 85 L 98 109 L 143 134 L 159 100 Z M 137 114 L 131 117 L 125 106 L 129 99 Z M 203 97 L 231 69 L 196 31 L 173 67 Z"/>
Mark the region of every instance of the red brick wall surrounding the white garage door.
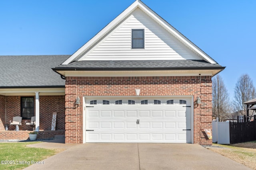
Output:
<path fill-rule="evenodd" d="M 203 132 L 212 129 L 211 76 L 66 77 L 66 143 L 83 142 L 82 107 L 74 107 L 77 96 L 136 96 L 135 89 L 140 96 L 193 95 L 195 100 L 201 95 L 201 104 L 194 104 L 194 143 L 212 144 Z"/>

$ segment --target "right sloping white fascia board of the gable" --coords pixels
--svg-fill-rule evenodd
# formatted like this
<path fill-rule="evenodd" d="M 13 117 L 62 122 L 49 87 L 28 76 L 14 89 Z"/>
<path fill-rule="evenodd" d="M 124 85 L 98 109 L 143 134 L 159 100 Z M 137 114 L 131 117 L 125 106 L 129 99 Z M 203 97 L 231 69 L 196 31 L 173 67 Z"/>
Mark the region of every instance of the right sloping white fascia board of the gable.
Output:
<path fill-rule="evenodd" d="M 194 43 L 192 43 L 189 39 L 187 39 L 184 35 L 182 35 L 178 30 L 176 30 L 172 25 L 170 25 L 168 22 L 163 20 L 158 14 L 156 14 L 154 11 L 152 11 L 150 8 L 148 8 L 145 4 L 140 3 L 139 8 L 144 11 L 146 14 L 148 14 L 151 18 L 153 18 L 156 22 L 158 22 L 162 27 L 167 29 L 168 32 L 170 32 L 174 37 L 180 39 L 182 43 L 193 49 L 198 55 L 202 56 L 206 61 L 208 61 L 211 64 L 216 64 L 216 61 L 211 59 L 204 51 L 202 51 L 200 48 L 198 48 Z"/>

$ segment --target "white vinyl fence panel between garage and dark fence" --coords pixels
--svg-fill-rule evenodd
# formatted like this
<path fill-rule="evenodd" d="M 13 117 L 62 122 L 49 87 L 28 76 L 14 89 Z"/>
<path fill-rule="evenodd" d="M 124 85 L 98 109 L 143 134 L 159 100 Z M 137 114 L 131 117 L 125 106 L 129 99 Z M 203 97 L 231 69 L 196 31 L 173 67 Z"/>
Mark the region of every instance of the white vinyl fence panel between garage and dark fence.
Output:
<path fill-rule="evenodd" d="M 230 144 L 229 122 L 212 121 L 212 142 Z"/>

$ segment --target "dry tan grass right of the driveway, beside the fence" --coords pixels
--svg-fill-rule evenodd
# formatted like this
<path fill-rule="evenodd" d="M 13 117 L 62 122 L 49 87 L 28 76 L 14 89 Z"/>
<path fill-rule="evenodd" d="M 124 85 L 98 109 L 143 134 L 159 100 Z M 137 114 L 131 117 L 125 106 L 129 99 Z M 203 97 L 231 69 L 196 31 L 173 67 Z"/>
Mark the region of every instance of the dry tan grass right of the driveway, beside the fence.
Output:
<path fill-rule="evenodd" d="M 208 149 L 256 170 L 256 141 L 233 145 L 213 143 Z"/>

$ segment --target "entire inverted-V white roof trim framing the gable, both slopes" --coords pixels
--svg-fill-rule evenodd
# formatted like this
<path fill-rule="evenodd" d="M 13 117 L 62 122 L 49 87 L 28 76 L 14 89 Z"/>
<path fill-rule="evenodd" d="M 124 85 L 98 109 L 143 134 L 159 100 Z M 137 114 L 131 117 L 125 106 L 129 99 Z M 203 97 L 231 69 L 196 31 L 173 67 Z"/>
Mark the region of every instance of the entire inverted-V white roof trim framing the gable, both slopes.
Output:
<path fill-rule="evenodd" d="M 148 6 L 146 6 L 140 0 L 136 0 L 133 4 L 131 4 L 126 10 L 124 10 L 119 16 L 117 16 L 114 20 L 112 20 L 106 27 L 104 27 L 100 32 L 98 32 L 92 39 L 90 39 L 86 44 L 84 44 L 80 49 L 78 49 L 73 55 L 71 55 L 66 61 L 62 64 L 66 65 L 71 63 L 74 59 L 79 57 L 82 53 L 84 53 L 88 48 L 97 43 L 102 37 L 104 37 L 107 33 L 109 33 L 117 24 L 119 24 L 122 20 L 124 20 L 130 13 L 132 13 L 136 8 L 140 8 L 143 12 L 148 14 L 151 18 L 153 18 L 157 23 L 159 23 L 162 27 L 164 27 L 169 33 L 174 35 L 177 39 L 179 39 L 184 45 L 189 47 L 195 53 L 198 53 L 200 57 L 204 60 L 208 61 L 211 64 L 216 64 L 210 56 L 208 56 L 204 51 L 198 48 L 194 43 L 192 43 L 189 39 L 187 39 L 184 35 L 182 35 L 179 31 L 177 31 L 172 25 L 162 19 L 158 14 L 152 11 Z"/>

